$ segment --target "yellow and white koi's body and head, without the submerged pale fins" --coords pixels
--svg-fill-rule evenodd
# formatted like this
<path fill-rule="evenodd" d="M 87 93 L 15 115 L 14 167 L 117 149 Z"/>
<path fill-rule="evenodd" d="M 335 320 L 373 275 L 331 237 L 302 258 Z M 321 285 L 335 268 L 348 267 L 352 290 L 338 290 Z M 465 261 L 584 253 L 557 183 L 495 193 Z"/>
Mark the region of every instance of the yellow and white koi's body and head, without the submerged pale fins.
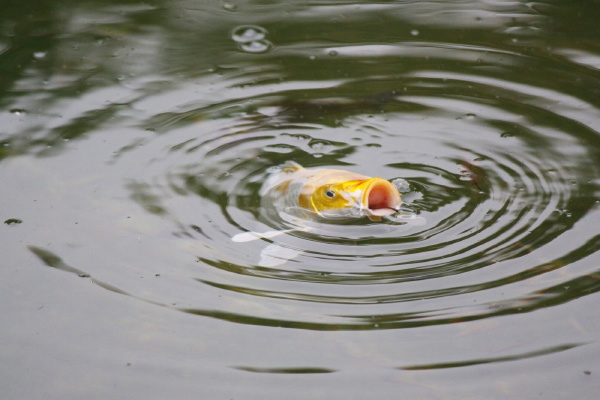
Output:
<path fill-rule="evenodd" d="M 367 217 L 378 222 L 397 213 L 402 204 L 398 189 L 383 178 L 339 169 L 303 168 L 294 161 L 274 171 L 260 195 L 263 207 L 304 218 Z"/>

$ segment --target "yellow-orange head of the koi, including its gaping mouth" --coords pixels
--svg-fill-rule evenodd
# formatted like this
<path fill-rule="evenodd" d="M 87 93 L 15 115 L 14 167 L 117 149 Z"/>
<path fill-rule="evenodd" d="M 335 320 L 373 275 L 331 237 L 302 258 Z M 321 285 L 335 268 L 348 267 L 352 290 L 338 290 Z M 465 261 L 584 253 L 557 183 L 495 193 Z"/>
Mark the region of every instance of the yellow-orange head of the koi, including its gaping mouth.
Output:
<path fill-rule="evenodd" d="M 402 204 L 394 185 L 382 178 L 329 183 L 316 187 L 301 204 L 323 216 L 362 216 L 371 221 L 398 211 Z"/>

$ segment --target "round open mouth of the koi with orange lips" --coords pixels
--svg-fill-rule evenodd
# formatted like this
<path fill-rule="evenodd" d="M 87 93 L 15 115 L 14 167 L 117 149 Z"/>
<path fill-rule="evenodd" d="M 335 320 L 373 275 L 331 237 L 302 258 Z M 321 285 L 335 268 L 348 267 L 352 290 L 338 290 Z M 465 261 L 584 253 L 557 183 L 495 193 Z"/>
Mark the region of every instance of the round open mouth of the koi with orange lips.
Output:
<path fill-rule="evenodd" d="M 400 210 L 400 192 L 389 181 L 382 178 L 366 180 L 361 203 L 369 216 L 383 217 Z"/>

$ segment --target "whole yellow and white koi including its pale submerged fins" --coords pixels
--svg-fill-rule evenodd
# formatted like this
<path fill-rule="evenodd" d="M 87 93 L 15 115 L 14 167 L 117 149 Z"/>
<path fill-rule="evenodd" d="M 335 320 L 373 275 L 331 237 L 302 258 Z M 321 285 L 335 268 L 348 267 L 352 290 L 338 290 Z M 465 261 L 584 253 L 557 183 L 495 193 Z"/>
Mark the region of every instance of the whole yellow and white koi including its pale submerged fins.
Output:
<path fill-rule="evenodd" d="M 259 194 L 264 212 L 280 217 L 285 214 L 288 222 L 295 225 L 292 229 L 242 232 L 231 238 L 237 243 L 268 240 L 270 244 L 260 252 L 258 265 L 261 267 L 279 266 L 303 254 L 303 250 L 278 244 L 273 239 L 292 232 L 318 229 L 318 224 L 312 225 L 313 220 L 366 217 L 379 222 L 383 217 L 400 212 L 402 205 L 396 186 L 383 178 L 339 169 L 303 168 L 294 161 L 286 161 L 272 169 Z"/>

